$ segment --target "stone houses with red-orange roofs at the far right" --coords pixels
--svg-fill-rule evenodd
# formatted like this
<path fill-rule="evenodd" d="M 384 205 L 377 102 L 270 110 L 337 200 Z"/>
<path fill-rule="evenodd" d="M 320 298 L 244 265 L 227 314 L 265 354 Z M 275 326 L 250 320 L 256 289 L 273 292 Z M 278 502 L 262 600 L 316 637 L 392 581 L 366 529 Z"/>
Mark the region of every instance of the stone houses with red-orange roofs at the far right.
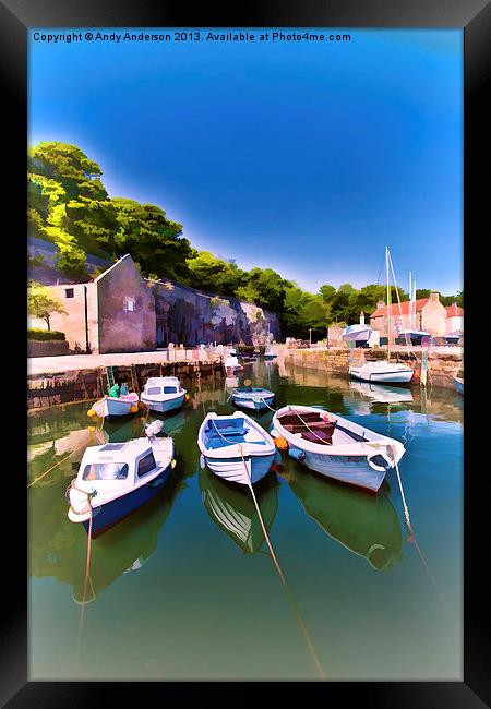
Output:
<path fill-rule="evenodd" d="M 424 331 L 434 337 L 445 337 L 451 333 L 464 334 L 464 309 L 458 305 L 443 305 L 438 292 L 416 301 L 416 322 L 411 319 L 411 302 L 405 300 L 391 305 L 391 337 L 396 338 L 400 331 Z M 387 337 L 387 307 L 383 301 L 370 316 L 370 326 L 378 329 L 381 337 Z"/>

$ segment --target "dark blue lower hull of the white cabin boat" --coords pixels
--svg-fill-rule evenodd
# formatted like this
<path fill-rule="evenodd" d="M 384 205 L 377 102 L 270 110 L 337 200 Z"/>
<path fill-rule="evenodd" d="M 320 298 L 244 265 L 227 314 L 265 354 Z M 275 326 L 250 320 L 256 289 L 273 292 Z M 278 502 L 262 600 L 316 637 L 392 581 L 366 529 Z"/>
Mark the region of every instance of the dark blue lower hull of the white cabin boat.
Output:
<path fill-rule="evenodd" d="M 121 497 L 111 500 L 99 507 L 93 505 L 92 538 L 99 537 L 107 529 L 113 527 L 158 495 L 168 481 L 171 470 L 172 467 L 169 462 L 156 478 L 146 484 L 132 490 L 125 495 L 121 495 Z M 88 533 L 89 520 L 84 520 L 82 524 Z"/>

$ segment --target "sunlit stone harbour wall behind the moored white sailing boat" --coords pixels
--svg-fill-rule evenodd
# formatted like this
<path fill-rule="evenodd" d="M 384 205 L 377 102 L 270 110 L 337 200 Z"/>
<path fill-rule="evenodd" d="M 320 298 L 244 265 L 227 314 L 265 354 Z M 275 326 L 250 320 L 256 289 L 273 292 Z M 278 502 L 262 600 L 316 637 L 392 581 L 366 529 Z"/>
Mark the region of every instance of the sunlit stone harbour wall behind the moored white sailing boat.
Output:
<path fill-rule="evenodd" d="M 371 359 L 385 359 L 384 350 L 355 350 L 354 358 L 361 354 Z M 300 366 L 310 370 L 336 372 L 348 374 L 349 371 L 349 350 L 347 348 L 333 349 L 291 349 L 282 352 L 285 366 Z M 398 351 L 393 354 L 393 359 L 398 359 L 400 363 L 411 366 L 417 376 L 421 373 L 421 353 L 418 352 L 416 358 L 407 351 Z M 454 376 L 463 369 L 462 352 L 429 352 L 428 356 L 428 384 L 431 386 L 442 386 L 453 388 Z M 419 380 L 418 380 L 419 381 Z"/>

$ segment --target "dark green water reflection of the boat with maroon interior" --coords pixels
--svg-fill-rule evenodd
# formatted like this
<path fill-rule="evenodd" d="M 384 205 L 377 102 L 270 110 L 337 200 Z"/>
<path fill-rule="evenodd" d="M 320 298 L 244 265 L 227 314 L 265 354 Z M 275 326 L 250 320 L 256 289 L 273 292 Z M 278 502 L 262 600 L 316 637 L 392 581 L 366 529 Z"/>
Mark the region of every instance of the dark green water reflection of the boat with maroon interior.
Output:
<path fill-rule="evenodd" d="M 388 570 L 400 561 L 402 530 L 386 483 L 368 495 L 292 467 L 285 478 L 309 517 L 374 569 Z"/>

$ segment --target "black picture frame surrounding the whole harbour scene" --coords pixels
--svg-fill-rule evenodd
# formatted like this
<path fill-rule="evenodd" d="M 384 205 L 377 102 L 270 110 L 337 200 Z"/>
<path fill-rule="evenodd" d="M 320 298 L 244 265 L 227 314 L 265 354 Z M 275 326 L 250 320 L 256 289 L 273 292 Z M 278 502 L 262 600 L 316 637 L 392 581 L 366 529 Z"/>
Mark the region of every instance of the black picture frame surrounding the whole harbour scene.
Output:
<path fill-rule="evenodd" d="M 309 689 L 322 692 L 322 698 L 334 696 L 343 704 L 359 702 L 359 706 L 376 706 L 405 709 L 466 708 L 490 706 L 489 668 L 489 591 L 486 582 L 487 512 L 488 502 L 482 489 L 482 478 L 489 474 L 486 458 L 476 459 L 472 450 L 479 450 L 479 442 L 486 441 L 486 411 L 476 412 L 479 366 L 472 364 L 478 353 L 478 308 L 483 300 L 482 284 L 486 283 L 486 263 L 479 255 L 480 239 L 486 235 L 489 220 L 489 178 L 481 177 L 481 166 L 489 170 L 490 152 L 490 68 L 491 68 L 491 4 L 483 0 L 320 0 L 309 3 L 273 2 L 243 3 L 216 11 L 201 3 L 196 8 L 176 2 L 133 2 L 120 0 L 0 0 L 0 75 L 2 77 L 4 149 L 11 153 L 8 167 L 5 216 L 10 216 L 10 231 L 3 236 L 4 269 L 16 274 L 9 286 L 7 304 L 15 315 L 16 296 L 19 303 L 25 302 L 26 274 L 25 256 L 25 148 L 27 129 L 27 29 L 29 27 L 75 27 L 75 26 L 211 26 L 211 27 L 259 27 L 259 26 L 328 26 L 328 27 L 462 27 L 464 29 L 465 57 L 465 112 L 464 112 L 464 263 L 466 292 L 466 426 L 465 426 L 465 602 L 464 602 L 464 677 L 462 682 L 336 682 L 301 683 Z M 7 214 L 8 213 L 8 214 Z M 21 237 L 21 235 L 23 235 Z M 15 244 L 15 245 L 13 245 Z M 24 271 L 25 267 L 25 271 Z M 7 274 L 5 274 L 7 276 Z M 484 301 L 486 302 L 486 301 Z M 21 308 L 22 310 L 22 308 Z M 486 316 L 486 314 L 484 314 Z M 9 325 L 9 337 L 4 339 L 3 354 L 4 387 L 10 382 L 22 382 L 24 368 L 24 315 L 14 316 Z M 19 327 L 19 332 L 16 332 Z M 476 347 L 474 343 L 477 343 Z M 19 357 L 12 352 L 19 348 Z M 19 368 L 19 371 L 15 370 Z M 13 371 L 12 371 L 13 370 Z M 486 378 L 481 374 L 481 387 Z M 12 386 L 12 388 L 14 388 Z M 19 386 L 15 387 L 17 389 Z M 476 397 L 476 398 L 475 398 Z M 10 400 L 10 398 L 12 400 Z M 11 521 L 4 515 L 3 563 L 7 578 L 2 584 L 2 632 L 0 645 L 1 706 L 10 707 L 81 707 L 113 705 L 113 685 L 122 687 L 124 699 L 142 701 L 148 693 L 155 693 L 156 701 L 167 701 L 169 690 L 182 695 L 181 683 L 89 683 L 27 681 L 27 592 L 26 592 L 26 488 L 23 478 L 22 446 L 26 443 L 23 433 L 25 404 L 23 396 L 9 398 L 7 422 L 3 431 L 9 434 L 12 454 L 7 455 L 3 469 L 5 488 L 9 492 Z M 19 400 L 17 400 L 19 399 Z M 4 411 L 5 413 L 5 411 Z M 10 444 L 15 440 L 15 444 Z M 21 447 L 21 448 L 20 448 Z M 13 485 L 13 490 L 12 490 Z M 4 488 L 4 491 L 5 491 Z M 13 504 L 12 500 L 15 500 Z M 3 506 L 2 506 L 3 507 Z M 16 563 L 15 574 L 11 570 Z M 196 688 L 201 683 L 189 683 Z M 205 683 L 215 684 L 215 683 Z M 233 684 L 233 683 L 220 683 Z M 243 698 L 258 697 L 259 683 L 246 683 Z M 249 685 L 253 685 L 249 688 Z M 214 688 L 216 693 L 217 688 Z M 219 689 L 219 688 L 218 688 Z M 300 687 L 302 690 L 302 688 Z M 120 689 L 121 690 L 121 689 Z M 230 688 L 225 688 L 228 695 Z M 233 693 L 233 688 L 231 688 Z M 262 692 L 262 689 L 261 689 Z M 143 695 L 142 695 L 143 693 Z M 223 695 L 224 698 L 227 695 Z M 235 694 L 232 694 L 235 696 Z"/>

